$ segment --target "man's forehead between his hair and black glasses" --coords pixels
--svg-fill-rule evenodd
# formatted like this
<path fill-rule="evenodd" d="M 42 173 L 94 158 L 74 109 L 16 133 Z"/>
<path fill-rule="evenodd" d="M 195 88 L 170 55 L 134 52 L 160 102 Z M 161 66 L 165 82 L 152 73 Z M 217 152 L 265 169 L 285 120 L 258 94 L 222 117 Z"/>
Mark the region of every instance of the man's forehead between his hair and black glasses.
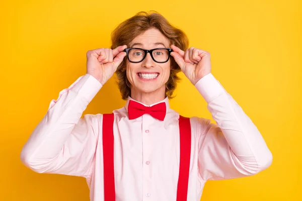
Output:
<path fill-rule="evenodd" d="M 162 34 L 158 29 L 152 28 L 136 36 L 130 43 L 131 46 L 154 47 L 165 46 L 169 47 L 169 39 Z"/>

